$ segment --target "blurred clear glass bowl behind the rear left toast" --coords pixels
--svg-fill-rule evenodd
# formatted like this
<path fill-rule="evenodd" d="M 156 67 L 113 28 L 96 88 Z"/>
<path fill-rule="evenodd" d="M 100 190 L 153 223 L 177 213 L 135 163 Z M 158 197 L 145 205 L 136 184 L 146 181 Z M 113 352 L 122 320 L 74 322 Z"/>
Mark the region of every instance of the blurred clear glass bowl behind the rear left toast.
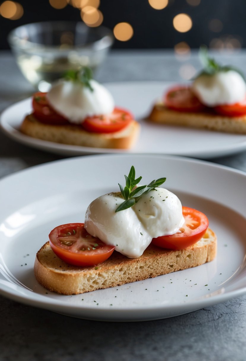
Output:
<path fill-rule="evenodd" d="M 19 68 L 40 91 L 47 91 L 66 70 L 89 66 L 95 72 L 113 39 L 106 27 L 69 21 L 27 24 L 8 35 Z"/>

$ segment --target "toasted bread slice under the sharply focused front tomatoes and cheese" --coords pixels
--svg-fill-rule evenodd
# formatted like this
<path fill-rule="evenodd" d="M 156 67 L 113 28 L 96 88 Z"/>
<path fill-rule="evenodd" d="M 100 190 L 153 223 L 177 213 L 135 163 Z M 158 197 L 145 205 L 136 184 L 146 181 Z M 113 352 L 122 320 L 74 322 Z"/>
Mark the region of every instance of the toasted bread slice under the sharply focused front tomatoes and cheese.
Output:
<path fill-rule="evenodd" d="M 150 244 L 138 258 L 127 258 L 114 251 L 97 266 L 78 267 L 60 260 L 47 242 L 36 255 L 34 274 L 41 286 L 48 290 L 73 295 L 196 267 L 212 261 L 216 251 L 216 235 L 208 229 L 199 242 L 182 251 L 170 251 Z"/>

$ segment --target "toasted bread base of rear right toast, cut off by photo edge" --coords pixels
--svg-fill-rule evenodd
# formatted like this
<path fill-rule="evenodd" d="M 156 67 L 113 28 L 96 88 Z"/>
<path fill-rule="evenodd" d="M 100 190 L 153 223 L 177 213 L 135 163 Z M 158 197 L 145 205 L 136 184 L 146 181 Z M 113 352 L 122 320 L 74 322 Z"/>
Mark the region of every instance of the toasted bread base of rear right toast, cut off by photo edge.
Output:
<path fill-rule="evenodd" d="M 227 133 L 246 134 L 246 116 L 225 117 L 214 111 L 196 113 L 177 112 L 168 109 L 164 104 L 155 104 L 148 119 L 152 122 L 179 125 L 193 128 L 204 128 Z"/>

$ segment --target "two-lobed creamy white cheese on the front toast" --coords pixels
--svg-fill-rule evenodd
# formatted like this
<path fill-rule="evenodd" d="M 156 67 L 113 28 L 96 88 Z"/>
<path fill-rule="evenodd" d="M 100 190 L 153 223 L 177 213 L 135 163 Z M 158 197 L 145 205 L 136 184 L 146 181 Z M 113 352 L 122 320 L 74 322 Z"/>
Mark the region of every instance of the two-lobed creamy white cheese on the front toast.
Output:
<path fill-rule="evenodd" d="M 144 194 L 131 208 L 115 212 L 124 202 L 120 192 L 98 197 L 85 213 L 85 229 L 129 258 L 142 255 L 152 238 L 176 233 L 184 223 L 178 197 L 163 188 Z"/>

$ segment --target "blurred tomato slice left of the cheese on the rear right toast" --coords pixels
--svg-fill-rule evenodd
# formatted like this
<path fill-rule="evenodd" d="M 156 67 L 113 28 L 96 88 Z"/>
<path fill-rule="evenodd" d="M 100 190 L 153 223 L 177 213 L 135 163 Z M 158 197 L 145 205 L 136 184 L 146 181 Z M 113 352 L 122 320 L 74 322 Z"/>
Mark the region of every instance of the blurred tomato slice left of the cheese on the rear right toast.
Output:
<path fill-rule="evenodd" d="M 164 96 L 164 104 L 177 112 L 199 112 L 205 108 L 205 105 L 186 86 L 176 86 L 168 90 Z"/>

